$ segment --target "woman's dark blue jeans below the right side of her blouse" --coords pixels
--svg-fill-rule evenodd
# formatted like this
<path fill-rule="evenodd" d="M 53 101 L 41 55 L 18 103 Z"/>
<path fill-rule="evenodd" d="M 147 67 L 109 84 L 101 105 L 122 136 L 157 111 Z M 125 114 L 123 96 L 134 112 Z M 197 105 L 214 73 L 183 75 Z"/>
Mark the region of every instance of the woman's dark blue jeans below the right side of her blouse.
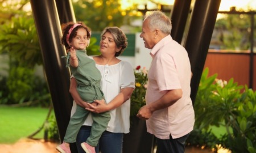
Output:
<path fill-rule="evenodd" d="M 105 131 L 100 138 L 102 153 L 122 153 L 123 133 Z"/>

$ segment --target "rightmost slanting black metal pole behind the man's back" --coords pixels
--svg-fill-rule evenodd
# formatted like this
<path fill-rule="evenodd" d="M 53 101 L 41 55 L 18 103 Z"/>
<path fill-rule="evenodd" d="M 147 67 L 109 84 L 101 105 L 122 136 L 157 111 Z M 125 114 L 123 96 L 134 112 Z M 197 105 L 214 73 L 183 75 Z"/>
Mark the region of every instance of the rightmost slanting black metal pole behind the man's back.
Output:
<path fill-rule="evenodd" d="M 216 22 L 221 0 L 196 0 L 191 14 L 188 35 L 185 39 L 185 49 L 191 61 L 191 99 L 196 99 L 205 59 Z"/>

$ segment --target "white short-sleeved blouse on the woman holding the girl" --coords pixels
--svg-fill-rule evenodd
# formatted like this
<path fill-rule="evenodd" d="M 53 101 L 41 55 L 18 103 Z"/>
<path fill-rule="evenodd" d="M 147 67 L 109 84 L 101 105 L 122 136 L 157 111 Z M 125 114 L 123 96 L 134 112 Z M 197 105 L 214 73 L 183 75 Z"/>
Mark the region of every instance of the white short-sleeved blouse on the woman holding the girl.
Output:
<path fill-rule="evenodd" d="M 115 96 L 117 96 L 122 88 L 135 88 L 135 76 L 133 68 L 129 62 L 121 61 L 115 65 L 97 65 L 100 70 L 102 79 L 101 87 L 104 92 L 105 101 L 108 104 Z M 111 119 L 108 124 L 107 131 L 113 133 L 129 133 L 130 129 L 130 99 L 123 103 L 120 107 L 110 111 Z M 76 111 L 76 103 L 73 102 L 71 116 Z M 93 120 L 91 114 L 86 118 L 83 125 L 92 126 Z"/>

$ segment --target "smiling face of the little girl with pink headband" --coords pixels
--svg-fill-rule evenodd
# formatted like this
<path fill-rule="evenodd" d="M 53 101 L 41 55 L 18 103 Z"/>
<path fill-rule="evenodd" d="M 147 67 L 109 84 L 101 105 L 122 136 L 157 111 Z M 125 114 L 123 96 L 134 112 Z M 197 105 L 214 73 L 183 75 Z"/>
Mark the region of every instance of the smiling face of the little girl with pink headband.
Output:
<path fill-rule="evenodd" d="M 77 34 L 69 43 L 76 50 L 84 50 L 88 46 L 87 32 L 84 28 L 77 29 Z"/>

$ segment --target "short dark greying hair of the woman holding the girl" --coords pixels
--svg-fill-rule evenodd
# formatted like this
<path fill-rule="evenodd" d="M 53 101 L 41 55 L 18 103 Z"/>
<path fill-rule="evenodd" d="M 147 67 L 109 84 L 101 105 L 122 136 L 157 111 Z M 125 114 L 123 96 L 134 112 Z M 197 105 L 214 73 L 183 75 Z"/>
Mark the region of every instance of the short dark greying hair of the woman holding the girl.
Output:
<path fill-rule="evenodd" d="M 101 32 L 101 37 L 106 33 L 109 32 L 111 35 L 114 37 L 115 44 L 117 45 L 117 48 L 121 47 L 121 50 L 119 52 L 115 53 L 115 57 L 119 56 L 120 54 L 123 53 L 125 48 L 128 45 L 127 38 L 125 33 L 118 27 L 106 27 L 102 32 Z"/>

